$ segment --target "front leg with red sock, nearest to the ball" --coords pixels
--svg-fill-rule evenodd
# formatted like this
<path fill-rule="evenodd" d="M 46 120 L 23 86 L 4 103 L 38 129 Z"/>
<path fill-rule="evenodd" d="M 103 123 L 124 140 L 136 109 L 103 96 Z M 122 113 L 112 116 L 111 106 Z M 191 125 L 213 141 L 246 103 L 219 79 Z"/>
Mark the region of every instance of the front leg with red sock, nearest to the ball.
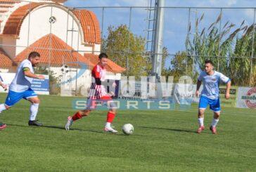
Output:
<path fill-rule="evenodd" d="M 106 101 L 106 104 L 108 105 L 109 111 L 107 114 L 107 120 L 105 123 L 104 131 L 110 132 L 110 133 L 117 133 L 112 126 L 112 122 L 115 119 L 115 115 L 117 114 L 117 106 L 115 105 L 115 102 L 113 102 L 111 97 L 104 97 L 103 98 Z"/>

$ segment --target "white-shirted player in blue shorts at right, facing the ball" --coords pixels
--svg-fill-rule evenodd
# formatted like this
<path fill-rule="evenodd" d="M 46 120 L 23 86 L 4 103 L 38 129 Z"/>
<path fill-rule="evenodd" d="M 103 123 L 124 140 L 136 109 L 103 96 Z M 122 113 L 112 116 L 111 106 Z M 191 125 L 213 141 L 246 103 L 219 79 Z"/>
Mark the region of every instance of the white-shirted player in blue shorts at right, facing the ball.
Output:
<path fill-rule="evenodd" d="M 213 70 L 213 63 L 211 60 L 205 60 L 205 71 L 201 72 L 198 77 L 196 96 L 199 96 L 199 88 L 203 82 L 203 91 L 200 94 L 200 101 L 198 106 L 198 124 L 199 128 L 197 133 L 201 133 L 205 126 L 203 124 L 204 112 L 207 105 L 210 105 L 210 110 L 213 111 L 212 124 L 210 130 L 213 134 L 217 133 L 216 126 L 219 121 L 219 115 L 221 111 L 219 101 L 219 83 L 224 82 L 226 84 L 225 98 L 229 99 L 229 91 L 231 88 L 231 80 L 224 74 Z"/>

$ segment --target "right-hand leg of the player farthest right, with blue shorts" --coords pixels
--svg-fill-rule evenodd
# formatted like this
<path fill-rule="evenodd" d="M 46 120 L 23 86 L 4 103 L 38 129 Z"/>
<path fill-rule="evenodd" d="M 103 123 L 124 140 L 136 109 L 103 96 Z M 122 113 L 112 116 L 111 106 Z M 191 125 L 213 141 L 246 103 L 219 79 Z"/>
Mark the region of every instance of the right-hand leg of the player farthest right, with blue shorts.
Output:
<path fill-rule="evenodd" d="M 210 109 L 213 111 L 213 118 L 212 118 L 212 124 L 210 126 L 210 130 L 213 134 L 217 134 L 216 126 L 219 122 L 219 116 L 220 116 L 220 102 L 219 99 L 213 100 L 210 104 Z"/>

